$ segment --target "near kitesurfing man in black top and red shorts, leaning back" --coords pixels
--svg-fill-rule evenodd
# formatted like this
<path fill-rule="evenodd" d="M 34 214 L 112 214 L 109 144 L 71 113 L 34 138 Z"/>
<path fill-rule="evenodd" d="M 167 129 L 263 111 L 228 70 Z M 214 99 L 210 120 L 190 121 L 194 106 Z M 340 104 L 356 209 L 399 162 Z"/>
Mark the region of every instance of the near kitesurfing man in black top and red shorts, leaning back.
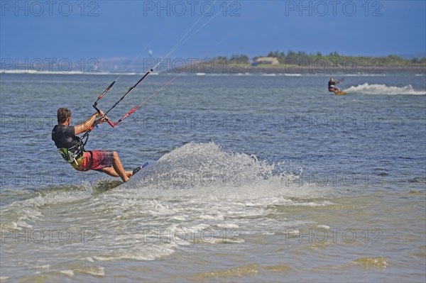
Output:
<path fill-rule="evenodd" d="M 84 150 L 82 139 L 78 137 L 80 133 L 90 130 L 95 119 L 99 118 L 96 124 L 104 123 L 107 117 L 104 113 L 94 113 L 87 121 L 77 126 L 70 126 L 71 111 L 66 108 L 58 109 L 58 125 L 52 130 L 52 140 L 55 142 L 62 157 L 69 162 L 75 170 L 88 171 L 95 170 L 104 172 L 112 177 L 121 177 L 123 182 L 142 169 L 136 167 L 133 171 L 125 171 L 119 154 L 112 150 Z"/>

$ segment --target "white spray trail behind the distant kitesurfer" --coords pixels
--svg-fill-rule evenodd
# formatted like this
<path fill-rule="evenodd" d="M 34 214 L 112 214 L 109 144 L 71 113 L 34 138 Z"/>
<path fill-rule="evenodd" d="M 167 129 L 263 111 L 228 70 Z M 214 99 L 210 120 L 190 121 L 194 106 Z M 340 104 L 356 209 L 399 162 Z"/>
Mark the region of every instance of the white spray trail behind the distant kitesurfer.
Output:
<path fill-rule="evenodd" d="M 386 84 L 359 84 L 356 87 L 349 87 L 349 89 L 344 89 L 344 91 L 351 94 L 386 94 L 386 95 L 396 95 L 396 94 L 413 94 L 413 95 L 425 95 L 426 90 L 415 90 L 408 84 L 405 87 L 393 87 L 387 86 Z"/>

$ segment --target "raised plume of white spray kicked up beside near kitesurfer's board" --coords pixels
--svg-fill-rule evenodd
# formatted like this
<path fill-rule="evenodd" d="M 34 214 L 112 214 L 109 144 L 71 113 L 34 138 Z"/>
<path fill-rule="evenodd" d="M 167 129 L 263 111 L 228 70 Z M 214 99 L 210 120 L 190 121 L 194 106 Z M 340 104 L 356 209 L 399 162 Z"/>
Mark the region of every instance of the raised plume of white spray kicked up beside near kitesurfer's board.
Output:
<path fill-rule="evenodd" d="M 214 143 L 188 143 L 163 155 L 149 170 L 121 188 L 126 192 L 142 190 L 151 199 L 165 196 L 212 203 L 226 199 L 243 206 L 288 204 L 288 197 L 310 199 L 329 194 L 327 188 L 294 183 L 297 174 L 274 172 L 280 166 L 245 153 L 226 152 Z M 161 201 L 156 203 L 155 213 L 173 209 L 163 205 Z"/>

